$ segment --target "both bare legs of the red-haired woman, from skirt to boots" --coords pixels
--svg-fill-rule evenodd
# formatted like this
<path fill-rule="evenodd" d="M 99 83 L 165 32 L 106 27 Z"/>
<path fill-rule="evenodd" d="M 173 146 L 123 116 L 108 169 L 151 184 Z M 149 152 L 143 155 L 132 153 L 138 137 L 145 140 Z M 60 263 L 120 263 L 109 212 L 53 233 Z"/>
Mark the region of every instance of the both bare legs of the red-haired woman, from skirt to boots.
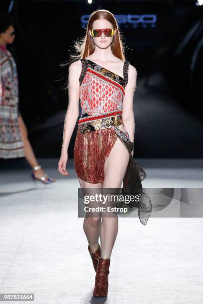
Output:
<path fill-rule="evenodd" d="M 121 127 L 119 126 L 119 128 L 120 130 L 124 130 L 123 125 Z M 104 163 L 103 184 L 88 183 L 79 178 L 81 188 L 120 188 L 127 169 L 128 161 L 129 153 L 119 138 L 117 138 Z M 84 219 L 83 228 L 92 251 L 94 252 L 98 248 L 100 237 L 101 256 L 106 258 L 110 257 L 118 231 L 117 217 L 102 217 L 102 222 L 99 217 L 86 217 Z"/>

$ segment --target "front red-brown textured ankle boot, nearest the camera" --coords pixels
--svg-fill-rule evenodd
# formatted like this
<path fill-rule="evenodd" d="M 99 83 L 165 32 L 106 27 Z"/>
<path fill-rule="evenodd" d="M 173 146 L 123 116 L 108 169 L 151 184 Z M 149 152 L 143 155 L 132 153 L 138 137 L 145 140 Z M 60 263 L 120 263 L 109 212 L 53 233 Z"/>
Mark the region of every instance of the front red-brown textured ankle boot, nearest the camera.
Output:
<path fill-rule="evenodd" d="M 95 277 L 94 297 L 106 297 L 108 294 L 108 274 L 110 258 L 98 258 L 98 267 Z"/>

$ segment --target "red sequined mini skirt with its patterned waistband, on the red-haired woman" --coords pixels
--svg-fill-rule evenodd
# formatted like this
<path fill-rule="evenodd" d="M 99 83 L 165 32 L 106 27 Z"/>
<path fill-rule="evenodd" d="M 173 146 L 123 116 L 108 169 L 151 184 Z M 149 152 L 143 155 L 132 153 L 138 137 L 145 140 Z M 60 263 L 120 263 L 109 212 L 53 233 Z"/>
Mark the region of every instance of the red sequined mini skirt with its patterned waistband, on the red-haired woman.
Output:
<path fill-rule="evenodd" d="M 89 116 L 79 119 L 76 142 L 74 146 L 74 164 L 78 177 L 89 183 L 102 183 L 103 168 L 118 136 L 129 134 L 120 131 L 118 126 L 123 124 L 122 111 L 111 111 L 99 116 Z M 133 149 L 133 143 L 132 149 Z M 131 149 L 131 152 L 132 152 Z M 130 152 L 130 151 L 129 151 Z"/>

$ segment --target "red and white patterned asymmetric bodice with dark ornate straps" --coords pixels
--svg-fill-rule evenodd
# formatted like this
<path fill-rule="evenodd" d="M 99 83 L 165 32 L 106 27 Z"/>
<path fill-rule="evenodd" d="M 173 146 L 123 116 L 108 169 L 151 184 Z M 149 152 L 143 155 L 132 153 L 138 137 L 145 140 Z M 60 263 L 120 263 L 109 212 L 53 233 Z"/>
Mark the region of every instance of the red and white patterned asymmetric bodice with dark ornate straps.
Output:
<path fill-rule="evenodd" d="M 113 110 L 122 110 L 129 62 L 124 61 L 123 77 L 91 60 L 81 59 L 81 62 L 82 72 L 79 80 L 82 114 L 99 115 Z"/>

